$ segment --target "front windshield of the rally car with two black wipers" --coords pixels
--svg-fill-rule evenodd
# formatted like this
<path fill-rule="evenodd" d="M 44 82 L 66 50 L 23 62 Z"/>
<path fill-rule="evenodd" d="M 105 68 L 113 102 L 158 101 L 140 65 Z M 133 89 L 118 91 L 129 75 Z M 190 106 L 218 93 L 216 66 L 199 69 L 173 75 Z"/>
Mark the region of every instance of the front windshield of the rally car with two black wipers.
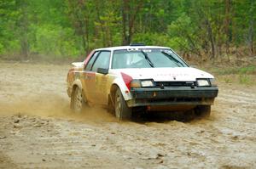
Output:
<path fill-rule="evenodd" d="M 116 50 L 113 52 L 112 69 L 188 67 L 171 49 Z"/>

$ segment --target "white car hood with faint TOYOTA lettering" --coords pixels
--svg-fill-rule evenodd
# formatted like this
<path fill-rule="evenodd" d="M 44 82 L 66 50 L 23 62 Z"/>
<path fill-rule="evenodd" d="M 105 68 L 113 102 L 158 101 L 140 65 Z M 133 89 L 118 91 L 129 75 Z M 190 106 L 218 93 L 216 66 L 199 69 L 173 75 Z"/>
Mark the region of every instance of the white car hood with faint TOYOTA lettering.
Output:
<path fill-rule="evenodd" d="M 196 78 L 214 78 L 211 74 L 191 67 L 119 69 L 133 79 L 153 79 L 155 82 L 195 81 Z"/>

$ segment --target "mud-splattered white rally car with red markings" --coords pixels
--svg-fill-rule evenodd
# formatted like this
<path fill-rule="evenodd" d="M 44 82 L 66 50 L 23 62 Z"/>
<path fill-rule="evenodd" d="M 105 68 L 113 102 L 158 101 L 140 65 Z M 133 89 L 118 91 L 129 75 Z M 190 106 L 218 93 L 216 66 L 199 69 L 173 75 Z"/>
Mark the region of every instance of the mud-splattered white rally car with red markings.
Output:
<path fill-rule="evenodd" d="M 86 104 L 112 107 L 119 120 L 133 110 L 194 110 L 210 115 L 218 95 L 214 77 L 189 67 L 171 48 L 131 46 L 98 48 L 67 74 L 71 108 Z"/>

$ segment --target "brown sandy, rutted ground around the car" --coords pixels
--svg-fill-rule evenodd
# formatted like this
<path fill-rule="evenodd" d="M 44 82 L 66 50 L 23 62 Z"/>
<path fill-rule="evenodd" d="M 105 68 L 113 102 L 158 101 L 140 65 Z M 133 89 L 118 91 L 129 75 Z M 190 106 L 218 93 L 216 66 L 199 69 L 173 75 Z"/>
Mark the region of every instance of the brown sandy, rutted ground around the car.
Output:
<path fill-rule="evenodd" d="M 68 68 L 0 62 L 0 168 L 256 168 L 255 86 L 220 84 L 209 118 L 118 122 L 69 110 Z"/>

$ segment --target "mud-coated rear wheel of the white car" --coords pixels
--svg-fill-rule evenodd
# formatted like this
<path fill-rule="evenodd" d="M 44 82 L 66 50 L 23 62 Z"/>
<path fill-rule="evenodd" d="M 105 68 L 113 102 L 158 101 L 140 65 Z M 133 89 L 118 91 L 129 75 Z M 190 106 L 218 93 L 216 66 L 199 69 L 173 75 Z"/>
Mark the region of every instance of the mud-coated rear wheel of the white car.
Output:
<path fill-rule="evenodd" d="M 82 113 L 86 102 L 79 87 L 75 87 L 71 95 L 70 107 L 75 113 Z"/>

